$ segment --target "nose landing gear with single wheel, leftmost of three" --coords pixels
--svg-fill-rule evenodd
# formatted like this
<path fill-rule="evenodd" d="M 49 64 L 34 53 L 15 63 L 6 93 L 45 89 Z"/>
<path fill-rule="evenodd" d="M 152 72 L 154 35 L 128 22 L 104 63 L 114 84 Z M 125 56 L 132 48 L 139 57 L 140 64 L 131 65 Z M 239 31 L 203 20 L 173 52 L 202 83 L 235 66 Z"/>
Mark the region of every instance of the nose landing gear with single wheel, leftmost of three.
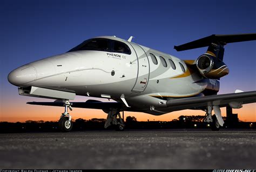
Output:
<path fill-rule="evenodd" d="M 64 101 L 65 111 L 62 113 L 62 116 L 60 116 L 59 119 L 59 128 L 62 132 L 69 132 L 72 129 L 72 118 L 68 113 L 68 107 L 72 111 L 71 105 L 72 103 L 70 103 L 69 100 Z"/>

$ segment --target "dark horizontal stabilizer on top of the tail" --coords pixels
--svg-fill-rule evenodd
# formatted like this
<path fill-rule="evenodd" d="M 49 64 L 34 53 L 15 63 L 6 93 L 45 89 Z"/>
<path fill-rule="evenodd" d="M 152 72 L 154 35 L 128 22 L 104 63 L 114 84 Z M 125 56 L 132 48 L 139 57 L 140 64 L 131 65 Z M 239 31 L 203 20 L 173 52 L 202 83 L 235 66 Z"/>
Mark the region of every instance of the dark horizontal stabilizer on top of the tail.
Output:
<path fill-rule="evenodd" d="M 212 43 L 226 45 L 232 42 L 252 41 L 256 40 L 256 33 L 246 34 L 213 34 L 211 36 L 201 38 L 183 45 L 174 46 L 174 49 L 184 51 L 187 49 L 201 48 L 210 46 Z"/>

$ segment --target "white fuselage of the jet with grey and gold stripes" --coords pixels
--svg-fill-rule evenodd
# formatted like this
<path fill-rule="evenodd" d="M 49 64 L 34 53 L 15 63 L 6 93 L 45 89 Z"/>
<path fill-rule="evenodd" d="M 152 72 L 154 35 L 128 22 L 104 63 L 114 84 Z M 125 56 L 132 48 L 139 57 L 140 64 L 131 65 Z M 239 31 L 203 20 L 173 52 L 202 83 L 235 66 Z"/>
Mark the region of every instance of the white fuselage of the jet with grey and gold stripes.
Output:
<path fill-rule="evenodd" d="M 116 37 L 98 38 L 124 42 L 131 54 L 92 50 L 67 52 L 25 64 L 12 71 L 9 81 L 18 87 L 35 86 L 75 92 L 80 96 L 107 95 L 118 102 L 122 102 L 123 94 L 132 111 L 151 114 L 171 112 L 171 107 L 161 108 L 167 99 L 200 95 L 209 84 L 198 82 L 203 77 L 172 55 Z M 152 61 L 150 53 L 156 56 L 157 63 Z M 150 110 L 152 106 L 157 111 Z"/>

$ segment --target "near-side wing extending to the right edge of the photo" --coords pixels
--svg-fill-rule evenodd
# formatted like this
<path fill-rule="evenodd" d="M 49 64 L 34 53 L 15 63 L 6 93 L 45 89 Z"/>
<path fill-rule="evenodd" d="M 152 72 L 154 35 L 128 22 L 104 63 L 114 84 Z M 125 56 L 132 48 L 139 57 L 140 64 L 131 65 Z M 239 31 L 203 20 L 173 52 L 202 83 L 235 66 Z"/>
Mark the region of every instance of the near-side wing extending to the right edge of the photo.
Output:
<path fill-rule="evenodd" d="M 256 91 L 248 91 L 204 97 L 171 99 L 166 102 L 166 105 L 168 107 L 173 107 L 172 109 L 177 111 L 184 109 L 206 109 L 208 105 L 218 105 L 220 107 L 230 105 L 232 107 L 232 105 L 235 104 L 248 104 L 255 102 Z"/>

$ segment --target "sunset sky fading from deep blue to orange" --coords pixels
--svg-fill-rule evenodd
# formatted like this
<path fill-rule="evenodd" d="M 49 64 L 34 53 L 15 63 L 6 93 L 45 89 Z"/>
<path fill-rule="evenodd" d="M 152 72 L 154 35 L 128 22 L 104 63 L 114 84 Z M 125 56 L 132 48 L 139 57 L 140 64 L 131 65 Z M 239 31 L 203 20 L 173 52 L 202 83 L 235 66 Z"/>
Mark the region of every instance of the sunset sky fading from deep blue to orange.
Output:
<path fill-rule="evenodd" d="M 7 76 L 11 70 L 31 61 L 68 51 L 86 39 L 116 35 L 172 54 L 196 60 L 207 47 L 176 52 L 174 45 L 211 34 L 256 32 L 256 1 L 0 1 L 1 85 L 0 121 L 58 120 L 64 107 L 28 105 L 50 99 L 19 96 Z M 256 90 L 256 41 L 225 46 L 224 62 L 230 74 L 221 78 L 219 94 L 236 89 Z M 86 101 L 77 96 L 75 101 Z M 255 103 L 234 109 L 243 121 L 256 121 Z M 223 115 L 226 116 L 225 108 Z M 167 120 L 180 115 L 204 115 L 184 110 L 152 116 L 125 112 L 137 120 Z M 106 118 L 102 110 L 75 108 L 74 119 Z"/>

